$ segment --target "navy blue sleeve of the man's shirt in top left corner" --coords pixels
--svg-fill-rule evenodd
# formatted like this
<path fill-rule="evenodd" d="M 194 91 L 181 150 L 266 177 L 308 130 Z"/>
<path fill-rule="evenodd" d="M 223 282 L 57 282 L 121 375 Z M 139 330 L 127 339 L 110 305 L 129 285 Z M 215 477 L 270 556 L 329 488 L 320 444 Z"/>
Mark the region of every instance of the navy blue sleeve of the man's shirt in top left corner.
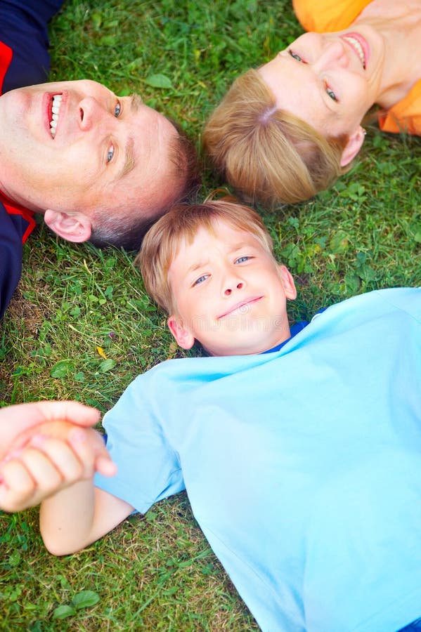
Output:
<path fill-rule="evenodd" d="M 47 22 L 63 0 L 1 0 L 0 42 L 13 51 L 1 93 L 47 81 Z"/>

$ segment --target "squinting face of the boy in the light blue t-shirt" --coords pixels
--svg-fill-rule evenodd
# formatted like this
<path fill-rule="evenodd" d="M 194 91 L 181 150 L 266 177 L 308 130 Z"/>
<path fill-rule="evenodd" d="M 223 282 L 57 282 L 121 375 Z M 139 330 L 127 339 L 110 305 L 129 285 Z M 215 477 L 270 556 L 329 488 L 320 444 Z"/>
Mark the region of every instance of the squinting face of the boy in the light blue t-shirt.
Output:
<path fill-rule="evenodd" d="M 197 231 L 169 267 L 176 314 L 168 326 L 177 343 L 200 341 L 211 355 L 261 353 L 290 337 L 286 299 L 294 281 L 250 233 L 220 220 L 214 234 Z"/>

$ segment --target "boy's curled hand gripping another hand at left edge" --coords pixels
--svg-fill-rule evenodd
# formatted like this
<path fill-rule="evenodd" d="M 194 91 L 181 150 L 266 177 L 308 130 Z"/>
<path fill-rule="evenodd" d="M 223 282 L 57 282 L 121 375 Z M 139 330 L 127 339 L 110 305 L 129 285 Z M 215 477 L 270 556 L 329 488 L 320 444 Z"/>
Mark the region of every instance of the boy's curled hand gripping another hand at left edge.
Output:
<path fill-rule="evenodd" d="M 0 463 L 0 508 L 21 511 L 78 480 L 116 473 L 103 438 L 91 428 L 50 421 L 27 428 Z"/>

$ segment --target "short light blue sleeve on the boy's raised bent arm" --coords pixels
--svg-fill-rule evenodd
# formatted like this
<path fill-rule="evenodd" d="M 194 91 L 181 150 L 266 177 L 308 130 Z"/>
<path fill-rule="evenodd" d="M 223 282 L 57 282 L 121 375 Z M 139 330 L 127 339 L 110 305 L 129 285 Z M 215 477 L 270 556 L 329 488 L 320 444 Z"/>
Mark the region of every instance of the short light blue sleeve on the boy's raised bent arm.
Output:
<path fill-rule="evenodd" d="M 141 512 L 156 501 L 181 492 L 184 480 L 179 455 L 164 433 L 159 397 L 150 374 L 138 376 L 104 417 L 107 448 L 118 471 L 112 478 L 96 475 L 95 485 Z"/>

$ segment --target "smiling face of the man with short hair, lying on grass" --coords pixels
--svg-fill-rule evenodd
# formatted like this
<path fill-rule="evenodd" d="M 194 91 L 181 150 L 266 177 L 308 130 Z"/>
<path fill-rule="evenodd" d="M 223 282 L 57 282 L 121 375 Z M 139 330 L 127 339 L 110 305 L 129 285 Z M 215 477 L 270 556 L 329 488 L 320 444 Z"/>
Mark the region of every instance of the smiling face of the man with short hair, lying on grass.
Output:
<path fill-rule="evenodd" d="M 96 81 L 40 84 L 1 96 L 0 121 L 0 190 L 34 211 L 141 213 L 181 188 L 176 129 L 138 96 Z"/>

